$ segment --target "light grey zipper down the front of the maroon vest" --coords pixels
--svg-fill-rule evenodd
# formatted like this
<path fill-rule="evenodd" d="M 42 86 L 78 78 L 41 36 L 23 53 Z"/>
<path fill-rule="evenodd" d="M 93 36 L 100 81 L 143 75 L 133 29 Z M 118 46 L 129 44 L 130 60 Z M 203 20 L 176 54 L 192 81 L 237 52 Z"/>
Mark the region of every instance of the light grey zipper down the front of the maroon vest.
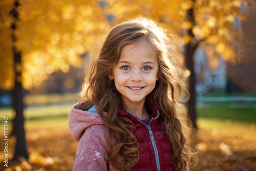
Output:
<path fill-rule="evenodd" d="M 124 106 L 123 106 L 124 107 Z M 131 115 L 133 115 L 129 110 L 127 110 L 125 107 L 124 109 L 130 113 Z M 134 115 L 133 115 L 134 116 Z M 136 116 L 134 116 L 138 121 L 140 121 Z M 147 130 L 148 132 L 150 133 L 150 139 L 151 139 L 151 143 L 153 145 L 153 148 L 154 148 L 154 152 L 155 152 L 155 156 L 156 156 L 156 163 L 157 163 L 157 171 L 161 171 L 161 168 L 160 168 L 160 161 L 159 161 L 159 155 L 158 155 L 158 151 L 157 151 L 157 145 L 156 145 L 156 142 L 155 142 L 155 139 L 154 139 L 154 135 L 153 135 L 153 132 L 151 130 L 151 127 L 150 127 L 150 123 L 153 119 L 157 119 L 159 117 L 159 111 L 157 111 L 157 116 L 154 118 L 152 117 L 150 122 L 148 123 L 148 125 L 146 125 L 145 123 L 143 123 L 146 127 L 147 127 Z"/>

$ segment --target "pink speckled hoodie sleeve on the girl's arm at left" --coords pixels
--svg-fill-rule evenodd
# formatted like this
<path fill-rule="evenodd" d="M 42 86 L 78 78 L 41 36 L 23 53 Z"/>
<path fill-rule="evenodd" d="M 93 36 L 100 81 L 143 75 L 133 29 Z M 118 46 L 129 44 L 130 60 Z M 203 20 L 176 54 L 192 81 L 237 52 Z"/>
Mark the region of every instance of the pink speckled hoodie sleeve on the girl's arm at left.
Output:
<path fill-rule="evenodd" d="M 88 127 L 79 140 L 73 171 L 108 170 L 108 152 L 100 136 Z"/>

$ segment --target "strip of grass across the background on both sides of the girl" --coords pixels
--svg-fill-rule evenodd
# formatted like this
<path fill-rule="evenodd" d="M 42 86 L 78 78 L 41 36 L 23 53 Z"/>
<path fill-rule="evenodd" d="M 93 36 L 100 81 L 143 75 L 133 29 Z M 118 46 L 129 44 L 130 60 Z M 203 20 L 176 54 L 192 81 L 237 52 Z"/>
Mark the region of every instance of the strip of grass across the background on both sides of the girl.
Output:
<path fill-rule="evenodd" d="M 72 104 L 48 105 L 24 110 L 25 125 L 38 127 L 68 125 L 68 115 Z M 255 108 L 229 108 L 228 103 L 208 104 L 205 107 L 197 108 L 199 127 L 221 129 L 226 126 L 249 126 L 256 123 Z M 0 116 L 8 116 L 9 123 L 14 118 L 14 111 L 10 108 L 1 109 Z M 3 122 L 4 117 L 0 118 Z M 231 127 L 232 127 L 231 126 Z"/>

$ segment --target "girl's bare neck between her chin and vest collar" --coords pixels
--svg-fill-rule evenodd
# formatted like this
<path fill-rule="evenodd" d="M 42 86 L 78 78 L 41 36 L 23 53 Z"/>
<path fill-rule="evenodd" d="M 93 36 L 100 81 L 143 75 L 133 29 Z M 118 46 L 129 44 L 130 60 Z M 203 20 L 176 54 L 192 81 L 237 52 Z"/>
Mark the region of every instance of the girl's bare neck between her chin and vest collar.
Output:
<path fill-rule="evenodd" d="M 150 115 L 147 113 L 144 103 L 145 103 L 145 100 L 143 100 L 142 102 L 139 102 L 139 103 L 123 102 L 123 105 L 133 115 L 137 116 L 141 120 L 144 120 L 144 119 L 150 118 Z"/>

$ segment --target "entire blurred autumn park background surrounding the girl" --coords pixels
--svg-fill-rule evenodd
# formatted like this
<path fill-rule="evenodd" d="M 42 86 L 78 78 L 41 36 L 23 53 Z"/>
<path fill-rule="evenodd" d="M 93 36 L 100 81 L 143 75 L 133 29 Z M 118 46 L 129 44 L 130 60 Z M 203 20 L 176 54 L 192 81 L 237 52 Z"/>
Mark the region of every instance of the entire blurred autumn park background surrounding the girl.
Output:
<path fill-rule="evenodd" d="M 254 0 L 2 0 L 1 170 L 72 170 L 78 142 L 68 114 L 88 56 L 110 28 L 136 16 L 166 29 L 187 68 L 189 142 L 199 152 L 190 170 L 255 170 Z"/>

